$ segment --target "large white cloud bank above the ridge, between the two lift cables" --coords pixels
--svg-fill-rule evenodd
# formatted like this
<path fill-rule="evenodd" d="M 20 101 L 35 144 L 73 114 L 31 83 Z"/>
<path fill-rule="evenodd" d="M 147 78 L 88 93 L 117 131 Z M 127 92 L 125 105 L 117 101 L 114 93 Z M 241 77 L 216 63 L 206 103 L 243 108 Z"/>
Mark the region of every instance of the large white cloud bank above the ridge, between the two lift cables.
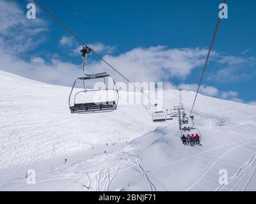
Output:
<path fill-rule="evenodd" d="M 170 78 L 188 77 L 193 69 L 204 64 L 206 53 L 207 50 L 200 48 L 139 47 L 117 56 L 105 55 L 104 59 L 133 82 L 168 82 Z M 88 71 L 109 71 L 116 75 L 101 61 L 93 62 Z"/>

